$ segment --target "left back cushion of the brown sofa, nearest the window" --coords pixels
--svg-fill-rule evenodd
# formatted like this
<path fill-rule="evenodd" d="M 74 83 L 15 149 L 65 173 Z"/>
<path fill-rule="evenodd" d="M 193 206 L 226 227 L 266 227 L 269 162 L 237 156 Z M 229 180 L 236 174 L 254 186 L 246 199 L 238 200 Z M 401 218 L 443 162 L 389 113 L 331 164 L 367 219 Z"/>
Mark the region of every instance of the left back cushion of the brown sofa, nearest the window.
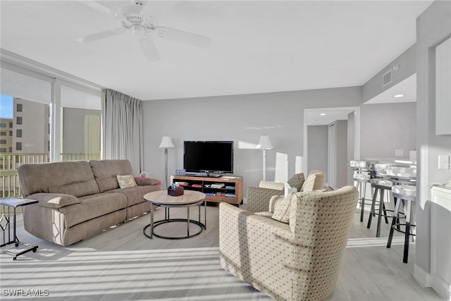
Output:
<path fill-rule="evenodd" d="M 39 192 L 75 197 L 99 193 L 87 161 L 23 164 L 18 167 L 18 178 L 23 197 Z"/>

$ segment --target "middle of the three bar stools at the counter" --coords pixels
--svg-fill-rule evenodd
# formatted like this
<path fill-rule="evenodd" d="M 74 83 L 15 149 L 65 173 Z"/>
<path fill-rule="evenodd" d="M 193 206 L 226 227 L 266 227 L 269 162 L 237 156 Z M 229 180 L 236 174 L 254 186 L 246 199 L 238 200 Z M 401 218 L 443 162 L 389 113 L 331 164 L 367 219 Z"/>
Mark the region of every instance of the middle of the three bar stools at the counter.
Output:
<path fill-rule="evenodd" d="M 372 168 L 376 172 L 376 177 L 378 178 L 372 178 L 370 180 L 371 188 L 373 188 L 373 200 L 371 202 L 371 210 L 368 218 L 368 225 L 366 225 L 366 228 L 371 228 L 371 221 L 373 221 L 373 216 L 378 214 L 378 224 L 376 228 L 376 238 L 381 237 L 381 219 L 382 216 L 385 218 L 385 223 L 388 223 L 388 215 L 387 211 L 393 211 L 393 210 L 387 210 L 385 209 L 385 202 L 384 202 L 384 195 L 385 192 L 392 191 L 393 183 L 390 180 L 387 180 L 386 178 L 383 178 L 385 175 L 385 172 L 387 171 L 388 164 L 383 163 L 376 163 L 373 164 Z M 376 202 L 377 202 L 377 196 L 379 193 L 379 208 L 376 209 Z"/>

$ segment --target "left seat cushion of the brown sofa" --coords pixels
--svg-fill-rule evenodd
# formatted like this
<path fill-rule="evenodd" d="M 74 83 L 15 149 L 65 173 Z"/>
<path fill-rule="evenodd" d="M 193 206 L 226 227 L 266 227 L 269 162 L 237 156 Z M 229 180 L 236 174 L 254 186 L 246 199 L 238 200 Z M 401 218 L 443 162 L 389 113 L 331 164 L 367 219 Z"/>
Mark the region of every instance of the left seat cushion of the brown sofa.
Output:
<path fill-rule="evenodd" d="M 79 204 L 59 209 L 66 215 L 66 228 L 127 207 L 127 197 L 122 193 L 99 193 L 79 199 Z"/>

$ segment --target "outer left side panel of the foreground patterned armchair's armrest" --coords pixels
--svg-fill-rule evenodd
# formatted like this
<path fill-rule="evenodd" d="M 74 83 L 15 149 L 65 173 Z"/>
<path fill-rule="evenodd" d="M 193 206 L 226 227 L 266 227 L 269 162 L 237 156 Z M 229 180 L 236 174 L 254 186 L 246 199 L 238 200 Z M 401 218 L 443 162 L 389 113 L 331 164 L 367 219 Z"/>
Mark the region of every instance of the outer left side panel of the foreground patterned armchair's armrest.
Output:
<path fill-rule="evenodd" d="M 290 300 L 286 295 L 299 269 L 293 261 L 298 248 L 288 224 L 219 204 L 220 264 L 257 290 L 273 292 L 276 300 Z"/>

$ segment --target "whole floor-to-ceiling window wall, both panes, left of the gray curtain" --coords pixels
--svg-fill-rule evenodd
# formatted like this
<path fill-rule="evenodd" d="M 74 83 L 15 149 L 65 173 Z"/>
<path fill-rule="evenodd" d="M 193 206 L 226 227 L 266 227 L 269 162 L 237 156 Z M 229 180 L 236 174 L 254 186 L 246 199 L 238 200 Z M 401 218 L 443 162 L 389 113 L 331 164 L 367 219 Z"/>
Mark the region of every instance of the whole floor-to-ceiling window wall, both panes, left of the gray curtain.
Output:
<path fill-rule="evenodd" d="M 0 70 L 0 198 L 20 195 L 20 164 L 101 159 L 100 89 L 4 61 Z"/>

